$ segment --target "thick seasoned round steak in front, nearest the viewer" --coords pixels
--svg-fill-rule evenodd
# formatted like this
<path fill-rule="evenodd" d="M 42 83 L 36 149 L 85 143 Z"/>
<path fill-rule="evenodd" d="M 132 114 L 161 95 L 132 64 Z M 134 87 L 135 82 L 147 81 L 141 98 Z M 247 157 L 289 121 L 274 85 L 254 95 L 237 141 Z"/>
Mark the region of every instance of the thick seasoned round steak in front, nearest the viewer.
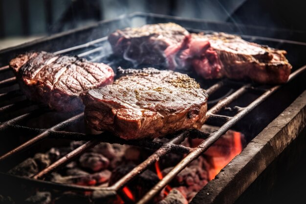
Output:
<path fill-rule="evenodd" d="M 205 122 L 207 94 L 185 74 L 170 70 L 119 68 L 113 84 L 80 96 L 89 127 L 126 139 L 155 138 Z"/>

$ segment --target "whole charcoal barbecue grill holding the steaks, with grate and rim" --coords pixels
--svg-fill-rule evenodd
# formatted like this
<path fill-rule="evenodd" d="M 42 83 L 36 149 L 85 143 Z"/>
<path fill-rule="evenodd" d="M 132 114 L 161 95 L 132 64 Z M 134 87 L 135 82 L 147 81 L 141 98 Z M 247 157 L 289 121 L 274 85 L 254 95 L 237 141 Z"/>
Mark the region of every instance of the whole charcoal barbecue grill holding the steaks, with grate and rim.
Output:
<path fill-rule="evenodd" d="M 218 125 L 219 129 L 214 132 L 185 130 L 178 134 L 167 136 L 169 141 L 165 143 L 148 139 L 125 141 L 108 132 L 93 135 L 84 133 L 84 131 L 66 130 L 71 126 L 82 124 L 84 119 L 83 112 L 69 113 L 68 118 L 63 117 L 65 120 L 62 121 L 56 120 L 55 124 L 47 128 L 24 125 L 27 121 L 33 121 L 37 117 L 49 113 L 50 110 L 39 103 L 29 102 L 22 95 L 13 72 L 6 65 L 14 56 L 24 51 L 44 50 L 55 54 L 78 55 L 79 57 L 87 58 L 89 61 L 108 63 L 114 68 L 121 62 L 118 59 L 109 57 L 111 48 L 108 44 L 107 36 L 111 32 L 124 27 L 169 21 L 186 27 L 190 32 L 228 32 L 241 35 L 242 38 L 248 41 L 285 49 L 288 51 L 288 60 L 293 64 L 289 81 L 284 85 L 276 86 L 224 79 L 206 82 L 208 86 L 205 88 L 210 96 L 206 123 Z M 299 41 L 301 36 L 301 32 L 134 13 L 115 20 L 101 21 L 94 26 L 71 30 L 2 50 L 0 51 L 0 65 L 2 66 L 0 68 L 0 140 L 5 141 L 6 135 L 18 133 L 18 136 L 23 137 L 23 141 L 26 138 L 26 141 L 18 144 L 15 141 L 14 144 L 16 146 L 14 147 L 5 142 L 3 142 L 5 146 L 1 145 L 1 183 L 5 184 L 3 187 L 8 188 L 6 190 L 11 191 L 14 190 L 10 189 L 14 185 L 24 184 L 34 188 L 77 192 L 89 191 L 92 192 L 89 194 L 91 198 L 103 199 L 119 194 L 119 191 L 124 186 L 166 154 L 171 152 L 186 154 L 187 156 L 183 160 L 150 189 L 144 197 L 137 201 L 138 204 L 145 204 L 149 203 L 157 193 L 169 184 L 175 175 L 205 152 L 227 130 L 235 129 L 241 132 L 248 132 L 248 145 L 240 155 L 235 157 L 219 173 L 218 179 L 209 182 L 192 201 L 192 203 L 203 203 L 204 201 L 207 203 L 233 203 L 255 181 L 266 166 L 277 158 L 286 146 L 295 140 L 305 128 L 306 60 L 302 56 L 306 51 L 306 42 Z M 255 122 L 257 117 L 260 118 L 260 122 Z M 27 135 L 32 135 L 33 137 L 26 137 Z M 186 147 L 181 144 L 186 138 L 201 138 L 205 140 L 197 147 Z M 87 142 L 47 166 L 32 178 L 7 173 L 12 166 L 38 151 L 39 148 L 35 147 L 40 144 L 44 146 L 44 140 L 46 139 Z M 11 141 L 11 139 L 7 139 L 7 141 Z M 101 142 L 145 147 L 153 149 L 154 153 L 109 187 L 79 186 L 44 181 L 44 178 L 50 173 Z M 20 154 L 22 152 L 25 153 Z M 263 153 L 265 156 L 261 157 L 260 154 Z M 268 155 L 270 156 L 268 157 Z M 254 163 L 265 164 L 258 165 L 254 172 L 252 171 L 254 170 L 252 169 Z M 243 181 L 243 186 L 234 190 L 234 186 L 239 184 L 240 181 Z"/>

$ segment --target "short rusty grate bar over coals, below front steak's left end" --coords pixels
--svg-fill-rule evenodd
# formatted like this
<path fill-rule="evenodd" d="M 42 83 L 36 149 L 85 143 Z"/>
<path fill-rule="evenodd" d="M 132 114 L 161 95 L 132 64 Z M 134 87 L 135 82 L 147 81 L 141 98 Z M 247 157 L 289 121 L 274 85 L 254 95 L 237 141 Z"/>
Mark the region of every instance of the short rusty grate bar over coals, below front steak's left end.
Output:
<path fill-rule="evenodd" d="M 58 169 L 59 167 L 61 167 L 65 163 L 70 162 L 75 157 L 81 155 L 83 152 L 87 151 L 88 149 L 90 149 L 91 147 L 94 147 L 95 145 L 97 145 L 99 143 L 101 143 L 101 139 L 96 138 L 96 139 L 88 141 L 85 144 L 82 144 L 81 146 L 79 146 L 75 150 L 66 154 L 64 157 L 62 157 L 58 161 L 52 163 L 51 165 L 49 165 L 48 167 L 43 169 L 41 172 L 37 173 L 33 178 L 34 179 L 43 179 L 46 175 L 50 174 L 52 171 L 55 171 L 56 169 Z"/>

